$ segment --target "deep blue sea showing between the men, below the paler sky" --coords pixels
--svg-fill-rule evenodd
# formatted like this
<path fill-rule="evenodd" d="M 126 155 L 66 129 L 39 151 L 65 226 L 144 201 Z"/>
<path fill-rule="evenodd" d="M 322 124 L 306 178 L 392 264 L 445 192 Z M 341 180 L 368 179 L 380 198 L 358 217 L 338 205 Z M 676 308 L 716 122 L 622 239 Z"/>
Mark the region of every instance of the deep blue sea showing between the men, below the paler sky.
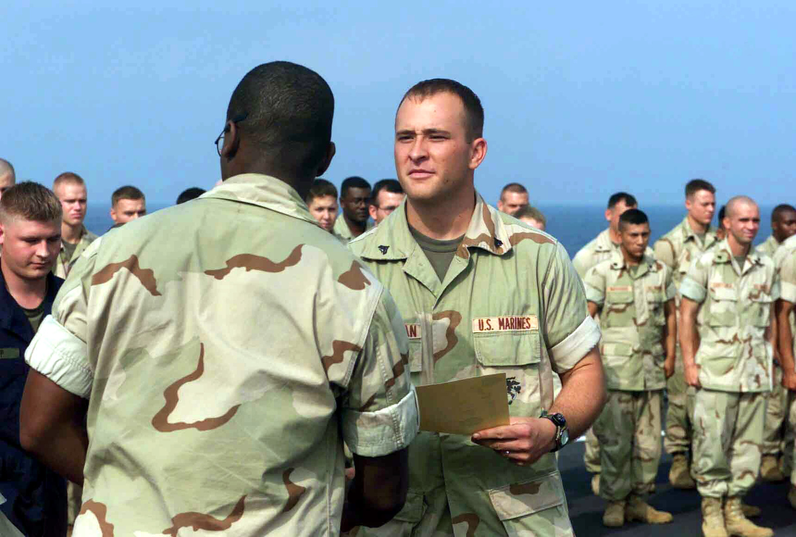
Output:
<path fill-rule="evenodd" d="M 149 214 L 152 214 L 169 206 L 171 205 L 166 203 L 154 203 L 148 204 L 146 209 Z M 604 215 L 604 204 L 583 206 L 540 204 L 537 208 L 547 218 L 547 232 L 564 245 L 569 257 L 575 256 L 579 249 L 583 248 L 588 241 L 591 241 L 608 225 Z M 771 235 L 771 210 L 773 208 L 774 206 L 760 206 L 760 231 L 755 237 L 755 245 L 765 241 Z M 646 213 L 647 218 L 650 218 L 650 229 L 652 230 L 650 246 L 685 218 L 685 207 L 682 205 L 642 206 L 640 209 Z M 84 223 L 92 233 L 98 235 L 105 233 L 113 225 L 109 207 L 89 204 Z M 716 218 L 713 218 L 713 223 L 716 223 Z"/>

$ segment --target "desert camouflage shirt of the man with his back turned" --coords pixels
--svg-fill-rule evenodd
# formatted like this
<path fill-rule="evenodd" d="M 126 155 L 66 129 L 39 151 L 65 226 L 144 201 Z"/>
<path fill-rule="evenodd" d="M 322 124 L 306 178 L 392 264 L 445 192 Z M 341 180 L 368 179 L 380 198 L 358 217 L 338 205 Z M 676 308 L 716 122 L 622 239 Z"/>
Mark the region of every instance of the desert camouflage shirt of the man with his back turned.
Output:
<path fill-rule="evenodd" d="M 95 241 L 26 358 L 89 400 L 75 537 L 245 537 L 338 535 L 343 441 L 415 437 L 407 352 L 373 274 L 244 174 Z"/>

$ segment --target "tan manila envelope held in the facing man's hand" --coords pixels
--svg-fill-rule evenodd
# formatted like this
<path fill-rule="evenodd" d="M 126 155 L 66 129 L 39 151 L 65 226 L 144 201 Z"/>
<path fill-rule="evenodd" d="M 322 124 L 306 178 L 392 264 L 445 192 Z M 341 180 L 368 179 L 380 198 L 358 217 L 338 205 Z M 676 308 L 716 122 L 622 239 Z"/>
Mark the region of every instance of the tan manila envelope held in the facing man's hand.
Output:
<path fill-rule="evenodd" d="M 470 435 L 509 425 L 505 373 L 416 386 L 420 430 Z"/>

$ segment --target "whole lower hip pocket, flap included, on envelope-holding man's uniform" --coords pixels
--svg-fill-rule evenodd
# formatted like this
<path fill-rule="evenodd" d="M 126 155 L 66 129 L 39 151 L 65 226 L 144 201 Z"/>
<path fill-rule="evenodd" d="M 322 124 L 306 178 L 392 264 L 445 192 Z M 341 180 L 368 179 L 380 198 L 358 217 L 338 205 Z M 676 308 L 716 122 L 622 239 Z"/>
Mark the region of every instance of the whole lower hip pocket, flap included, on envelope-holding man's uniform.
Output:
<path fill-rule="evenodd" d="M 564 484 L 558 472 L 490 490 L 492 507 L 509 535 L 570 535 Z"/>

